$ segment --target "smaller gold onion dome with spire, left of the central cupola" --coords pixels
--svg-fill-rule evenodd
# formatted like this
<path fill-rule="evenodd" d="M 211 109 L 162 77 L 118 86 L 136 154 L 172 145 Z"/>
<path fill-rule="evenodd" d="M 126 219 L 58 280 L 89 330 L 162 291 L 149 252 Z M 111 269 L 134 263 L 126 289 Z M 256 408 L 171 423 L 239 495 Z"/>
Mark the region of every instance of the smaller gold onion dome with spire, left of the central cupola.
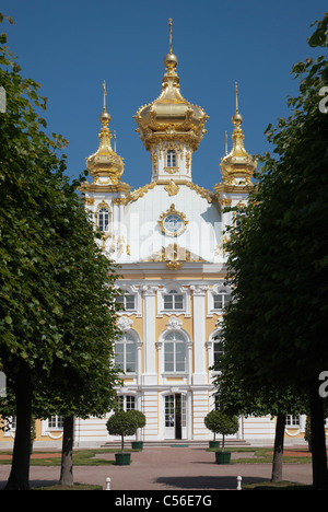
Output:
<path fill-rule="evenodd" d="M 110 146 L 112 133 L 108 128 L 110 116 L 106 110 L 106 85 L 104 89 L 104 107 L 99 116 L 102 129 L 99 131 L 99 147 L 97 151 L 86 159 L 86 167 L 95 181 L 98 177 L 109 177 L 113 185 L 116 185 L 124 172 L 124 161 L 121 156 L 113 151 Z"/>

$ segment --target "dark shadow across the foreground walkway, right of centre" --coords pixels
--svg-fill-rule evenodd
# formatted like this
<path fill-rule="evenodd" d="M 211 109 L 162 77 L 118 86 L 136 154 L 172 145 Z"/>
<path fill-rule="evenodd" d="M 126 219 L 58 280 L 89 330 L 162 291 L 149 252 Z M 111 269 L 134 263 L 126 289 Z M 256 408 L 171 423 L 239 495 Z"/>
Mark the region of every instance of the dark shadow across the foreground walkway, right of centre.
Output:
<path fill-rule="evenodd" d="M 155 480 L 165 486 L 179 487 L 180 489 L 236 489 L 237 478 L 235 476 L 192 476 L 192 477 L 160 477 Z M 260 484 L 266 478 L 244 477 L 243 484 Z"/>

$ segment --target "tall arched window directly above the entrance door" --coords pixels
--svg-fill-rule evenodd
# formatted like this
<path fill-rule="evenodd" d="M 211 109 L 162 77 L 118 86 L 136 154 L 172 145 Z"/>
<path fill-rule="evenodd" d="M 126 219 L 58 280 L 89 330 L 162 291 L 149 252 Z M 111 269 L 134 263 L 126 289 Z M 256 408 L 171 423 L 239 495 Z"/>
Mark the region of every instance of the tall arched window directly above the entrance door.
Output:
<path fill-rule="evenodd" d="M 186 372 L 186 341 L 180 333 L 168 333 L 164 338 L 164 372 Z"/>

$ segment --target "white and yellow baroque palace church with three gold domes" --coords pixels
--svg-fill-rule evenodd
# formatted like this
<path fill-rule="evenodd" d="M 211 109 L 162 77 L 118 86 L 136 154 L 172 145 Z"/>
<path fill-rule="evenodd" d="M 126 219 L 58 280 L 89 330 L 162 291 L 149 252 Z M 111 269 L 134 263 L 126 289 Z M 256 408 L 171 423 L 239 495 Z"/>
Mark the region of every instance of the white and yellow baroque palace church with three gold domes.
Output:
<path fill-rule="evenodd" d="M 117 394 L 125 408 L 144 412 L 144 441 L 212 439 L 203 420 L 214 407 L 211 366 L 220 358 L 216 335 L 230 300 L 225 230 L 234 222 L 224 208 L 247 203 L 256 168 L 244 148 L 236 90 L 233 147 L 221 159 L 222 182 L 212 190 L 194 183 L 192 154 L 208 116 L 183 97 L 177 63 L 169 38 L 161 94 L 134 116 L 150 153 L 149 183 L 131 190 L 122 182 L 124 160 L 112 147 L 104 83 L 99 147 L 86 159 L 92 181 L 82 187 L 85 207 L 102 232 L 102 248 L 120 266 L 117 286 L 125 311 L 118 319 L 116 362 L 124 385 Z M 114 440 L 106 420 L 77 418 L 75 445 Z M 274 424 L 271 418 L 241 418 L 236 438 L 271 443 Z M 286 435 L 300 440 L 304 428 L 304 418 L 298 423 L 291 419 Z M 61 443 L 56 418 L 38 422 L 36 433 L 38 444 Z M 0 435 L 5 445 L 14 429 Z"/>

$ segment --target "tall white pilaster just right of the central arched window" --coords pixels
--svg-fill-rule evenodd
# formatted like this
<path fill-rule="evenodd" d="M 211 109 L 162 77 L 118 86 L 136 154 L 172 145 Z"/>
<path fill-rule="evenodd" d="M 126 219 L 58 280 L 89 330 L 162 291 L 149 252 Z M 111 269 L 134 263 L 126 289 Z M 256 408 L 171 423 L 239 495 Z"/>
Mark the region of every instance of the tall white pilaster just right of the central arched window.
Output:
<path fill-rule="evenodd" d="M 206 368 L 206 286 L 191 286 L 194 291 L 194 365 L 192 384 L 208 384 Z"/>

